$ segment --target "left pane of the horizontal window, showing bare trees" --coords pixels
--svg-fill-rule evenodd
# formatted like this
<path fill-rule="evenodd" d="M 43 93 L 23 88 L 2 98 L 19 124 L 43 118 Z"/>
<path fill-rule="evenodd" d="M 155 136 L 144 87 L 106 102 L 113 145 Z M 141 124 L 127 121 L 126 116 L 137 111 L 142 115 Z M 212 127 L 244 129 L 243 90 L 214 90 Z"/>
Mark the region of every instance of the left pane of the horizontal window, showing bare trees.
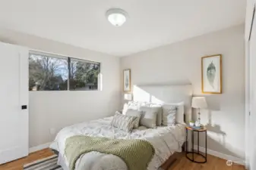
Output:
<path fill-rule="evenodd" d="M 63 91 L 68 89 L 68 62 L 63 58 L 30 54 L 30 91 Z"/>

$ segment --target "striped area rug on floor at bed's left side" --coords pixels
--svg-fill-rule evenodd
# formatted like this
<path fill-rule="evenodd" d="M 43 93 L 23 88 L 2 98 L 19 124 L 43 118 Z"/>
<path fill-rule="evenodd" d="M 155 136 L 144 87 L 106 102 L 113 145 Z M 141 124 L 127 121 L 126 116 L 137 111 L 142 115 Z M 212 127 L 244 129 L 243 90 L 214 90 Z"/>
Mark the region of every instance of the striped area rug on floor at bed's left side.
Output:
<path fill-rule="evenodd" d="M 49 156 L 24 165 L 24 170 L 62 170 L 62 167 L 57 165 L 57 161 L 57 155 Z"/>

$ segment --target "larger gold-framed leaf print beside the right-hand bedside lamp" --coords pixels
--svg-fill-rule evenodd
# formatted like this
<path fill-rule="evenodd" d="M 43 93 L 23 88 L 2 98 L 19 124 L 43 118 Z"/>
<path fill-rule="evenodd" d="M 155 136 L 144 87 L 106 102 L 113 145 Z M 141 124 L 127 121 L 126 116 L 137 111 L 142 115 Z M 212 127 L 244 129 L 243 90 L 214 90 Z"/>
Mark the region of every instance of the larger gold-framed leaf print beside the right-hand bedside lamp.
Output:
<path fill-rule="evenodd" d="M 201 57 L 203 94 L 222 94 L 222 54 Z"/>

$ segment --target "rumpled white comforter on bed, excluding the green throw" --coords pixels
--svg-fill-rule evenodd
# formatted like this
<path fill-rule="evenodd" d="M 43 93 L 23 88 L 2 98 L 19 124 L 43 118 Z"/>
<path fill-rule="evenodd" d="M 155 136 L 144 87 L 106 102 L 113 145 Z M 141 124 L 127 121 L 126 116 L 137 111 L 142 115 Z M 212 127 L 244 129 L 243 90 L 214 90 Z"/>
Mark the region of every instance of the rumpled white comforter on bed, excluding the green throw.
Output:
<path fill-rule="evenodd" d="M 161 126 L 157 128 L 140 127 L 131 133 L 119 130 L 110 125 L 112 117 L 93 120 L 77 125 L 71 125 L 58 132 L 51 148 L 58 150 L 60 164 L 68 170 L 68 161 L 65 157 L 65 140 L 74 135 L 88 135 L 107 138 L 144 139 L 150 142 L 155 149 L 155 155 L 148 165 L 148 170 L 156 170 L 174 152 L 182 150 L 185 141 L 185 125 Z M 104 153 L 86 153 L 77 160 L 76 170 L 128 170 L 125 162 L 118 156 Z"/>

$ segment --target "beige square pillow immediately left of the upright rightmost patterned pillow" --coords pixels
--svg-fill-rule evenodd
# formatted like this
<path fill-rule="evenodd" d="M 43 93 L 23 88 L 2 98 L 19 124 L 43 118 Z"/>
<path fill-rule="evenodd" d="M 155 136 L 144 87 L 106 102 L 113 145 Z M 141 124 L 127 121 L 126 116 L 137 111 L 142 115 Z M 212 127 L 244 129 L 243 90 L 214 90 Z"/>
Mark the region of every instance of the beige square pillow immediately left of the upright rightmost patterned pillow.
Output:
<path fill-rule="evenodd" d="M 141 107 L 142 111 L 140 125 L 147 128 L 156 128 L 156 116 L 158 108 L 155 107 Z"/>

